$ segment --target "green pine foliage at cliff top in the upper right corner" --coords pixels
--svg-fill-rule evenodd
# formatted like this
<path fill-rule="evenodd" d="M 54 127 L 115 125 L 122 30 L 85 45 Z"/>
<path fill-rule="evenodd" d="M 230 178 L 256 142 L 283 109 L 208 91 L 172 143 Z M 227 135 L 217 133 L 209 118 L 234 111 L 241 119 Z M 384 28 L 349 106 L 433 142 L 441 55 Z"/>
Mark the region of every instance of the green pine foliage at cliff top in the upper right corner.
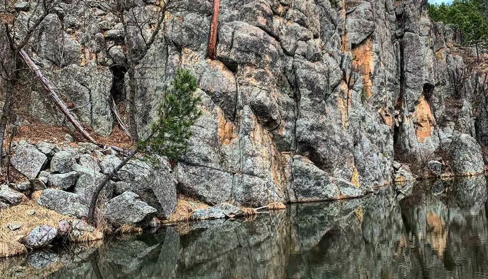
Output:
<path fill-rule="evenodd" d="M 454 0 L 451 4 L 428 4 L 434 21 L 455 24 L 463 31 L 463 43 L 476 51 L 488 44 L 488 11 L 482 0 Z M 479 56 L 479 53 L 478 53 Z"/>

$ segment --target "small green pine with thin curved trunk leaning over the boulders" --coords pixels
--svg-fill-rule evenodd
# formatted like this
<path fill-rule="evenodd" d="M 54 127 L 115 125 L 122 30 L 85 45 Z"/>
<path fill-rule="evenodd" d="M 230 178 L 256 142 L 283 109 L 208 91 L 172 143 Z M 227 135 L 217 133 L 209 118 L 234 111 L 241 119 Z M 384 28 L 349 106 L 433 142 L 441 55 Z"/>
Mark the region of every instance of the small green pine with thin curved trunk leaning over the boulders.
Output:
<path fill-rule="evenodd" d="M 89 205 L 88 221 L 93 222 L 98 196 L 103 187 L 136 154 L 143 155 L 143 159 L 157 165 L 161 156 L 178 160 L 188 150 L 188 140 L 192 135 L 190 128 L 201 115 L 198 107 L 201 99 L 193 94 L 196 89 L 197 79 L 190 71 L 176 71 L 175 78 L 163 96 L 157 119 L 150 125 L 149 135 L 140 140 L 134 150 L 126 154 L 122 162 L 95 188 Z"/>

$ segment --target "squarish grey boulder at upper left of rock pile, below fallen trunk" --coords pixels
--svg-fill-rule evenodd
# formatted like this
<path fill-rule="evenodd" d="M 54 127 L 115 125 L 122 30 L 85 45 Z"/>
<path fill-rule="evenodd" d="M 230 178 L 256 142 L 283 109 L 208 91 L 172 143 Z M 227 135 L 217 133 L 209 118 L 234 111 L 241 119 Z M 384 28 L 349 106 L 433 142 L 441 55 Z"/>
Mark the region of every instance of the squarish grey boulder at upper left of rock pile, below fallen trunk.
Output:
<path fill-rule="evenodd" d="M 20 143 L 10 163 L 27 178 L 36 178 L 45 167 L 47 156 L 28 143 Z"/>

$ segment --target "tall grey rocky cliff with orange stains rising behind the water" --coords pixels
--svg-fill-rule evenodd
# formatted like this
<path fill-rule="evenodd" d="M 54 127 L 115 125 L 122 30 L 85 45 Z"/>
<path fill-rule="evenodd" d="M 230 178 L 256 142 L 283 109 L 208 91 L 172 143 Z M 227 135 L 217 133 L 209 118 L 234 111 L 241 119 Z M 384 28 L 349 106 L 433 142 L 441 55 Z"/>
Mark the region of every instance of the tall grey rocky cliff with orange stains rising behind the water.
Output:
<path fill-rule="evenodd" d="M 157 2 L 141 0 L 141 13 Z M 203 116 L 171 171 L 178 191 L 254 206 L 362 196 L 392 183 L 394 161 L 484 171 L 481 63 L 458 47 L 455 28 L 429 19 L 427 0 L 221 0 L 216 60 L 207 58 L 213 1 L 191 2 L 167 14 L 137 71 L 142 131 L 175 69 L 198 78 Z M 125 108 L 121 49 L 138 41 L 103 0 L 88 3 L 49 15 L 26 51 L 106 136 L 112 98 Z M 30 6 L 20 17 L 39 12 Z M 39 85 L 26 94 L 24 115 L 62 124 Z"/>

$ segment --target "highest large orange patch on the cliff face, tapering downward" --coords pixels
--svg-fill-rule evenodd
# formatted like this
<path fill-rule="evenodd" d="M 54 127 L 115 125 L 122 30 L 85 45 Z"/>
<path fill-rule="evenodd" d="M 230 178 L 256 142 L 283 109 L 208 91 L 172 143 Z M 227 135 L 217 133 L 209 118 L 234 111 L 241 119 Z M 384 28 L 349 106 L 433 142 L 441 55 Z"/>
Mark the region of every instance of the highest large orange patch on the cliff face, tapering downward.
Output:
<path fill-rule="evenodd" d="M 371 74 L 373 73 L 373 40 L 371 37 L 367 37 L 363 42 L 354 47 L 351 50 L 352 57 L 352 69 L 353 71 L 359 71 L 358 74 L 363 75 L 363 86 L 366 91 L 366 96 L 371 97 L 371 87 L 373 82 L 371 80 Z"/>

